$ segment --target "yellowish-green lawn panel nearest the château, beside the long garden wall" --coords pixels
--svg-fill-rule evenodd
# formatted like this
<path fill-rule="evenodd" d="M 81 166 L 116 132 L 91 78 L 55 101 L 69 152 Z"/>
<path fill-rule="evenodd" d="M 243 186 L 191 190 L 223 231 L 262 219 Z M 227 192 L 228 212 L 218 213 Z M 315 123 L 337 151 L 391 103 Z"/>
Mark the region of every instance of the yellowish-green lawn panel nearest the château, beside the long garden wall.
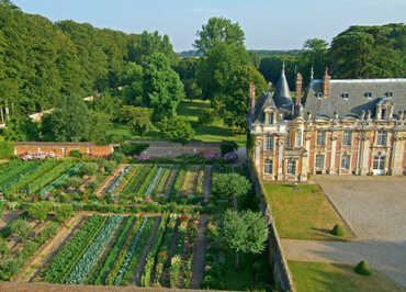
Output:
<path fill-rule="evenodd" d="M 318 186 L 266 184 L 264 189 L 280 237 L 342 240 L 352 236 Z M 342 237 L 329 233 L 336 224 L 342 226 Z"/>

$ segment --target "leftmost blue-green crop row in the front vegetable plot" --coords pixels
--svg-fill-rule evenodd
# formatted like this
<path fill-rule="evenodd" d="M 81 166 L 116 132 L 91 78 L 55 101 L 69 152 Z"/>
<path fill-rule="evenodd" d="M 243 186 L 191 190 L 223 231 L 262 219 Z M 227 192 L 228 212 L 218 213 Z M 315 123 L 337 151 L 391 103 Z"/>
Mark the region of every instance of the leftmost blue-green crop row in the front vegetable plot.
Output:
<path fill-rule="evenodd" d="M 71 273 L 66 279 L 66 283 L 80 284 L 84 281 L 122 220 L 123 216 L 120 215 L 113 215 L 108 218 L 105 225 L 100 229 L 97 237 L 91 242 L 91 245 L 74 267 Z"/>

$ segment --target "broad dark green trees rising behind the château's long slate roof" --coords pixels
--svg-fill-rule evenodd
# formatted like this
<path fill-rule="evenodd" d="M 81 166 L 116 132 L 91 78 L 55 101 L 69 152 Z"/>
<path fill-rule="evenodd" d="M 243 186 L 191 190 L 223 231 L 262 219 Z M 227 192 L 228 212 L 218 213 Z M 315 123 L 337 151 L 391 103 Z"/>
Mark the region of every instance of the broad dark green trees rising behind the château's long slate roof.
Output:
<path fill-rule="evenodd" d="M 354 25 L 332 40 L 336 78 L 391 78 L 406 75 L 406 25 Z"/>

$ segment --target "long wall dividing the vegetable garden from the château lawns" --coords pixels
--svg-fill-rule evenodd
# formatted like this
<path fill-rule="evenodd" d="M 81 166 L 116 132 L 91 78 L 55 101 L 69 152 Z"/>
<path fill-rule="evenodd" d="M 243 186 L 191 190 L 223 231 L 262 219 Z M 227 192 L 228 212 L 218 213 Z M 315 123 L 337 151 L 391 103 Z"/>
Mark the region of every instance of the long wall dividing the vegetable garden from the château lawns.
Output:
<path fill-rule="evenodd" d="M 274 225 L 271 207 L 267 204 L 262 181 L 259 179 L 258 173 L 252 166 L 252 161 L 248 162 L 251 180 L 253 181 L 256 193 L 261 200 L 261 212 L 269 222 L 269 236 L 268 236 L 268 260 L 273 271 L 273 279 L 277 287 L 282 291 L 295 291 L 292 280 L 292 273 L 289 270 L 287 262 L 282 249 L 281 240 L 277 227 Z"/>

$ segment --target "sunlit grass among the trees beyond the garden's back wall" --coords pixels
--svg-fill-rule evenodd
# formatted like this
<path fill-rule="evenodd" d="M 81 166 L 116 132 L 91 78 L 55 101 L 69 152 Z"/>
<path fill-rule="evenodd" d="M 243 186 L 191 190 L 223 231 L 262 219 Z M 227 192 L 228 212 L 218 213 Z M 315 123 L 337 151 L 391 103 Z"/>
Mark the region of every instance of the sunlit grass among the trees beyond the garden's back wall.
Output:
<path fill-rule="evenodd" d="M 191 122 L 192 127 L 196 132 L 195 141 L 202 142 L 222 142 L 222 141 L 235 141 L 239 146 L 246 145 L 246 135 L 234 135 L 233 132 L 217 119 L 211 125 L 200 125 L 198 114 L 203 109 L 210 109 L 208 101 L 194 100 L 193 102 L 183 101 L 178 106 L 178 114 L 184 116 Z M 113 130 L 109 134 L 119 134 L 131 137 L 132 139 L 165 139 L 162 134 L 157 130 L 153 128 L 149 133 L 144 136 L 136 135 L 128 126 L 123 124 L 114 124 Z"/>

